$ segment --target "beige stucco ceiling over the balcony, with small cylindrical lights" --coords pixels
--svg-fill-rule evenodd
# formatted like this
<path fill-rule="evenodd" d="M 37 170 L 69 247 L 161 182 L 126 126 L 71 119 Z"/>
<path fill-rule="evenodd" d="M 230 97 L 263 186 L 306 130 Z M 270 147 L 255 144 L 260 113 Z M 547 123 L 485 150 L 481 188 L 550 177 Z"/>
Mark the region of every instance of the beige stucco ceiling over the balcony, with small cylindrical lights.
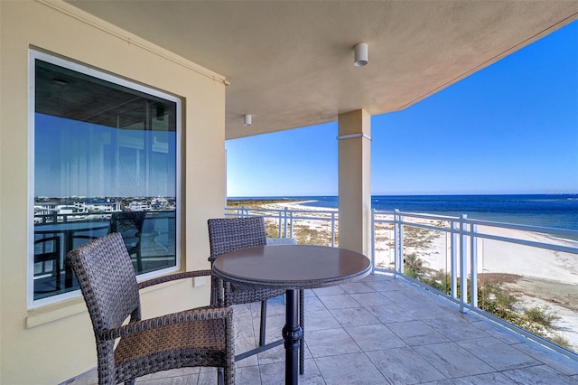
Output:
<path fill-rule="evenodd" d="M 576 0 L 69 3 L 224 75 L 228 139 L 406 108 L 578 15 Z"/>

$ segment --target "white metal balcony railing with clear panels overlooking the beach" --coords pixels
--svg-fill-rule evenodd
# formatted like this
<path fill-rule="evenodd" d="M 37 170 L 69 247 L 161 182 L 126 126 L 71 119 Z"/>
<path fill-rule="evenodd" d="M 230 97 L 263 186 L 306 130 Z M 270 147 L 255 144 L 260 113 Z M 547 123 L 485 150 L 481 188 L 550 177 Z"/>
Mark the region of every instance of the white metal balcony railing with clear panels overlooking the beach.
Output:
<path fill-rule="evenodd" d="M 227 208 L 267 234 L 339 245 L 337 210 Z M 578 361 L 578 231 L 373 211 L 372 264 Z M 464 287 L 464 290 L 461 288 Z"/>

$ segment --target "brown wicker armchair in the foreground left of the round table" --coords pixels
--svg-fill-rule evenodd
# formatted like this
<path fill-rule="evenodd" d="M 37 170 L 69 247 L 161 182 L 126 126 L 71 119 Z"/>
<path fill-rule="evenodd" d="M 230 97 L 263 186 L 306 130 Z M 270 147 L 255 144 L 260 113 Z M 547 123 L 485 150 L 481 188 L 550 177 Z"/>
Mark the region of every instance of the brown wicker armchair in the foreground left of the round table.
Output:
<path fill-rule="evenodd" d="M 208 276 L 210 270 L 137 284 L 125 242 L 118 233 L 73 249 L 67 258 L 89 308 L 97 343 L 99 384 L 132 384 L 145 374 L 192 366 L 223 368 L 218 370 L 219 382 L 235 383 L 230 307 L 206 306 L 141 320 L 140 288 Z M 129 315 L 129 323 L 123 324 Z"/>

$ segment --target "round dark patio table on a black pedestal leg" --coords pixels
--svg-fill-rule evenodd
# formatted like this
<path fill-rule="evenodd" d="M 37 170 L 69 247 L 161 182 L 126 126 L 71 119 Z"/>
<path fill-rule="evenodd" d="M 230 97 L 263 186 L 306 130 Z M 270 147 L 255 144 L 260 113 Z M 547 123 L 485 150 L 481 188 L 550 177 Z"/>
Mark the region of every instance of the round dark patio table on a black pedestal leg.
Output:
<path fill-rule="evenodd" d="M 285 384 L 297 384 L 298 352 L 303 336 L 299 325 L 298 291 L 338 285 L 368 276 L 371 263 L 348 249 L 310 245 L 275 245 L 238 249 L 213 263 L 213 274 L 225 281 L 286 290 Z"/>

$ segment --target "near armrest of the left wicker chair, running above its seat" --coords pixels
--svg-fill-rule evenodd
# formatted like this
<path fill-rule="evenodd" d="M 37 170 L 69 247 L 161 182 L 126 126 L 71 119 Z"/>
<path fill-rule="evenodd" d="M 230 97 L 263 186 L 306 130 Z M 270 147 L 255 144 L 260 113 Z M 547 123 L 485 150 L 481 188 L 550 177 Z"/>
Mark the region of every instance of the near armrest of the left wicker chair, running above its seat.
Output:
<path fill-rule="evenodd" d="M 114 329 L 106 329 L 98 333 L 97 338 L 99 341 L 115 340 L 120 337 L 125 337 L 126 335 L 144 332 L 146 330 L 154 329 L 157 327 L 169 326 L 172 324 L 191 323 L 210 319 L 225 319 L 226 323 L 232 324 L 233 308 L 230 306 L 197 307 L 179 313 L 172 313 L 170 315 L 161 315 L 146 320 L 131 322 L 129 324 L 118 326 Z"/>

